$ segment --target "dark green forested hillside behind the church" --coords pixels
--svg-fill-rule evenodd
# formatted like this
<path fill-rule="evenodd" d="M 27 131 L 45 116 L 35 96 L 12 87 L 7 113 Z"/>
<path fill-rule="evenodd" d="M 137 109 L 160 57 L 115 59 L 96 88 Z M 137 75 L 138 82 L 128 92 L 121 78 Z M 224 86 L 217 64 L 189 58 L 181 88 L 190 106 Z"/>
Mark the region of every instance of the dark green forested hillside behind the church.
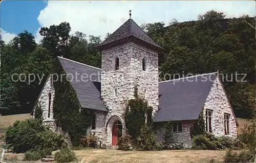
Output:
<path fill-rule="evenodd" d="M 199 15 L 197 21 L 174 20 L 167 27 L 162 22 L 141 25 L 165 50 L 159 55 L 162 79 L 164 74 L 196 75 L 219 71 L 223 73 L 223 84 L 237 117 L 243 118 L 251 117 L 255 110 L 255 29 L 251 26 L 255 28 L 255 17 L 226 19 L 223 13 L 215 11 Z M 100 37 L 90 35 L 86 39 L 86 34 L 70 35 L 70 31 L 69 23 L 62 22 L 41 28 L 39 33 L 43 39 L 39 44 L 27 31 L 10 43 L 1 40 L 2 114 L 31 111 L 56 56 L 100 67 L 101 54 L 95 49 L 101 42 Z M 240 74 L 237 80 L 236 72 Z M 26 76 L 21 75 L 22 81 L 13 82 L 14 73 Z M 38 74 L 34 82 L 28 82 L 29 74 Z M 33 79 L 33 75 L 30 77 Z M 13 76 L 13 80 L 17 78 Z M 246 82 L 239 82 L 242 79 Z"/>

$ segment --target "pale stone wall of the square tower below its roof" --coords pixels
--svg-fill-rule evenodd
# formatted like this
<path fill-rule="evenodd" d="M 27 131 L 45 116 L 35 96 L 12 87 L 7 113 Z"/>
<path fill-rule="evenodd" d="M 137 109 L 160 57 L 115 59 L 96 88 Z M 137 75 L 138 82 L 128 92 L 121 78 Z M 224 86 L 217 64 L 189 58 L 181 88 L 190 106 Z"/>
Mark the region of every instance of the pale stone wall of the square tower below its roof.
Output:
<path fill-rule="evenodd" d="M 119 69 L 115 71 L 115 58 L 119 58 Z M 146 59 L 146 71 L 142 70 L 142 59 Z M 111 141 L 112 133 L 106 126 L 113 117 L 119 117 L 124 124 L 124 111 L 127 101 L 134 98 L 134 86 L 138 94 L 153 107 L 153 114 L 158 110 L 158 53 L 133 42 L 114 46 L 102 51 L 101 60 L 101 98 L 109 109 L 105 127 L 108 136 L 106 145 Z M 145 94 L 144 94 L 145 93 Z M 111 126 L 112 127 L 112 126 Z M 124 129 L 124 127 L 123 127 Z"/>

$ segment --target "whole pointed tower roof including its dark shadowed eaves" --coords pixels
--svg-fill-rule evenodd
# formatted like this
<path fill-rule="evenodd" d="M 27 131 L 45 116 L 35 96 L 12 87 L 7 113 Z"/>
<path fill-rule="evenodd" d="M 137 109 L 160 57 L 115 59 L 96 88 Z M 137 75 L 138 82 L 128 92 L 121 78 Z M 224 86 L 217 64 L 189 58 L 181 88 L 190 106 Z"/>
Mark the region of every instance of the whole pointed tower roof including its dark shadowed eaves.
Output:
<path fill-rule="evenodd" d="M 119 27 L 113 34 L 106 38 L 103 42 L 97 45 L 97 48 L 102 49 L 104 46 L 119 44 L 123 40 L 136 39 L 151 48 L 163 50 L 154 40 L 150 38 L 133 19 L 128 19 L 124 24 Z"/>

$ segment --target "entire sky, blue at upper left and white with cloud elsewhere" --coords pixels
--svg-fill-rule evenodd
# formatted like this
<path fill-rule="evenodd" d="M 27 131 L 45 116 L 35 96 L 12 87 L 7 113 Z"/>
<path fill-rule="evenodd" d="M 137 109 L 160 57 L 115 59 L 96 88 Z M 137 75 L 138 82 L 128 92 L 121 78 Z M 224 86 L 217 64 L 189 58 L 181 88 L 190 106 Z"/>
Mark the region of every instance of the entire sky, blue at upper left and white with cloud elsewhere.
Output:
<path fill-rule="evenodd" d="M 101 36 L 113 33 L 129 18 L 138 25 L 163 21 L 196 20 L 209 10 L 224 12 L 226 17 L 255 16 L 255 1 L 2 1 L 1 35 L 8 42 L 16 34 L 29 31 L 36 41 L 40 27 L 67 21 L 75 31 Z"/>

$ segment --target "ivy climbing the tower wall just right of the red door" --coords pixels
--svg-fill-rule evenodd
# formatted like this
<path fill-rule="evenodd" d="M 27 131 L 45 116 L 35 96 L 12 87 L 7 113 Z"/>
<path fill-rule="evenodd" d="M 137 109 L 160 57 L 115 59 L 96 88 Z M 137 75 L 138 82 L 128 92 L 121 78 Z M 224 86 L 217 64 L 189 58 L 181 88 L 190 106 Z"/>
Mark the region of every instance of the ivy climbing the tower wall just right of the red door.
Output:
<path fill-rule="evenodd" d="M 137 86 L 134 92 L 135 99 L 128 101 L 124 115 L 127 134 L 131 136 L 131 143 L 137 150 L 156 150 L 158 144 L 153 128 L 153 108 L 139 97 Z"/>

